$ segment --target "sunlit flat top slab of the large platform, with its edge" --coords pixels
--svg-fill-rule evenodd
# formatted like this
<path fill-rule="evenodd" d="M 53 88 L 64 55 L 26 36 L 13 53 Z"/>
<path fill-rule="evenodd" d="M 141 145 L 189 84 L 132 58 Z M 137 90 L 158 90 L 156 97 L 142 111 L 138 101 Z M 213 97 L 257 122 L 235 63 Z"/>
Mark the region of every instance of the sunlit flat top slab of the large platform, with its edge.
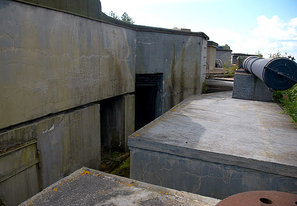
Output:
<path fill-rule="evenodd" d="M 128 145 L 297 177 L 297 129 L 277 103 L 193 95 L 129 137 Z"/>

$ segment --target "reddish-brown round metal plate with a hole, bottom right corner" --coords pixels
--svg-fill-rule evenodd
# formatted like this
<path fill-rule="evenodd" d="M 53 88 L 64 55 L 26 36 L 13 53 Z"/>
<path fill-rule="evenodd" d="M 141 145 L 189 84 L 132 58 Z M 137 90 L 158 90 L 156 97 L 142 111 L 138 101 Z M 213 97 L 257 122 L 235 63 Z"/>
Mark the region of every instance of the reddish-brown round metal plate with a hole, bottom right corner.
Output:
<path fill-rule="evenodd" d="M 277 191 L 250 191 L 225 198 L 216 206 L 297 206 L 297 195 Z"/>

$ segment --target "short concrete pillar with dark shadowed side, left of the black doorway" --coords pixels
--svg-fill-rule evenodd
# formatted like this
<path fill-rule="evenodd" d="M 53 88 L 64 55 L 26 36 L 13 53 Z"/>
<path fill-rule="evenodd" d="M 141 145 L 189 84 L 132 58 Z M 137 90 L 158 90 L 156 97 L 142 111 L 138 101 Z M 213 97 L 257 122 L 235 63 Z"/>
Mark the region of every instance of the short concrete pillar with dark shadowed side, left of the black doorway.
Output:
<path fill-rule="evenodd" d="M 134 132 L 134 94 L 100 102 L 101 144 L 108 150 L 128 151 L 128 136 Z"/>

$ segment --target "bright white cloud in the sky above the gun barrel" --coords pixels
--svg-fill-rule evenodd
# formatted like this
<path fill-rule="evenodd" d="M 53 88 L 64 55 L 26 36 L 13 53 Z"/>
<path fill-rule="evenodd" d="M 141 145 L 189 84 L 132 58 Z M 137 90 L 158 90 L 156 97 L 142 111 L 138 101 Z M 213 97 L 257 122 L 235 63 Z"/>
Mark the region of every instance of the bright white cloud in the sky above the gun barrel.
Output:
<path fill-rule="evenodd" d="M 211 41 L 228 44 L 234 53 L 254 54 L 258 50 L 268 58 L 271 53 L 287 52 L 297 58 L 297 18 L 288 22 L 278 16 L 257 17 L 258 26 L 250 31 L 232 32 L 224 28 L 205 31 Z"/>

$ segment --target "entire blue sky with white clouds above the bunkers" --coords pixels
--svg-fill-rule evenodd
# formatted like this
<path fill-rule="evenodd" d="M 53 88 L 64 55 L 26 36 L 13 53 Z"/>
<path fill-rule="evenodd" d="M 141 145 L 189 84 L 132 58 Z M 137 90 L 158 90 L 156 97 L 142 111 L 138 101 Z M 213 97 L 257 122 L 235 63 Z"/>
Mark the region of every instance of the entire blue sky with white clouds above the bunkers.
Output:
<path fill-rule="evenodd" d="M 297 0 L 100 0 L 102 12 L 127 12 L 137 25 L 187 28 L 233 53 L 297 59 Z"/>

